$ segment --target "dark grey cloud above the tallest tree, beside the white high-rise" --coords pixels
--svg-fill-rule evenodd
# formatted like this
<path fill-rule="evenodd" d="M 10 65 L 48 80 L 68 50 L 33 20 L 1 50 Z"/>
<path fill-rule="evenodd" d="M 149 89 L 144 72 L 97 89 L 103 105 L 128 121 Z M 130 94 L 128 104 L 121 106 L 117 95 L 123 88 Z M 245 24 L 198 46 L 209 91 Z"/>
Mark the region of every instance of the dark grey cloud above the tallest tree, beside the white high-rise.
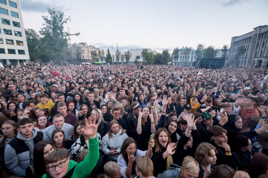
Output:
<path fill-rule="evenodd" d="M 71 8 L 64 7 L 62 5 L 57 5 L 56 3 L 48 3 L 44 1 L 33 1 L 33 0 L 21 0 L 22 11 L 28 12 L 47 12 L 47 7 L 55 8 L 56 10 L 70 10 Z"/>

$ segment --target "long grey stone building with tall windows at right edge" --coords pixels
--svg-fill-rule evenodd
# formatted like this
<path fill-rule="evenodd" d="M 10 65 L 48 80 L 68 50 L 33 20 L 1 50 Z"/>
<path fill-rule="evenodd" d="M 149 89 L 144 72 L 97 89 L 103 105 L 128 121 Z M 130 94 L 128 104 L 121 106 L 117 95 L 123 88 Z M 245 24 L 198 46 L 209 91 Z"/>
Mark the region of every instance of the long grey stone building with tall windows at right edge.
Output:
<path fill-rule="evenodd" d="M 242 51 L 242 52 L 241 52 Z M 268 26 L 232 38 L 228 65 L 237 67 L 268 67 Z"/>

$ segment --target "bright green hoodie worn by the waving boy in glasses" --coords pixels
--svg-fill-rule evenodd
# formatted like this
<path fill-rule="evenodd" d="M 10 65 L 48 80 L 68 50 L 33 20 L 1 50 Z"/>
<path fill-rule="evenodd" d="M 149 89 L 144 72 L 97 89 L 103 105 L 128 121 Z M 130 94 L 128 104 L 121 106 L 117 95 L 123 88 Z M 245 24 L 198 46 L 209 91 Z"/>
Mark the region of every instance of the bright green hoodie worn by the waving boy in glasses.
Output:
<path fill-rule="evenodd" d="M 88 175 L 96 166 L 99 156 L 100 156 L 100 151 L 99 151 L 98 137 L 95 137 L 93 139 L 88 138 L 88 155 L 86 156 L 84 161 L 80 163 L 70 160 L 67 173 L 76 165 L 76 167 L 74 168 L 74 173 L 71 176 L 71 178 L 88 177 Z M 46 178 L 46 174 L 44 174 L 42 178 Z"/>

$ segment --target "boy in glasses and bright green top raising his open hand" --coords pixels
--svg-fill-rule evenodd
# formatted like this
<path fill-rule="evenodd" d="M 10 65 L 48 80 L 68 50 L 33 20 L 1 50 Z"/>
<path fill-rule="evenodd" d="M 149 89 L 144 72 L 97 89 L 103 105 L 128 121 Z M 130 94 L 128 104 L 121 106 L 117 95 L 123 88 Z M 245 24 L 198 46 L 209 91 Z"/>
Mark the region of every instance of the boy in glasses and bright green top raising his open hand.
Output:
<path fill-rule="evenodd" d="M 88 137 L 88 155 L 84 161 L 77 163 L 70 160 L 67 149 L 56 149 L 49 154 L 46 160 L 48 173 L 44 174 L 42 178 L 88 177 L 90 175 L 100 156 L 99 140 L 96 133 L 101 121 L 95 124 L 96 117 L 94 117 L 93 121 L 91 118 L 85 119 L 85 123 L 86 129 L 81 129 L 83 135 Z"/>

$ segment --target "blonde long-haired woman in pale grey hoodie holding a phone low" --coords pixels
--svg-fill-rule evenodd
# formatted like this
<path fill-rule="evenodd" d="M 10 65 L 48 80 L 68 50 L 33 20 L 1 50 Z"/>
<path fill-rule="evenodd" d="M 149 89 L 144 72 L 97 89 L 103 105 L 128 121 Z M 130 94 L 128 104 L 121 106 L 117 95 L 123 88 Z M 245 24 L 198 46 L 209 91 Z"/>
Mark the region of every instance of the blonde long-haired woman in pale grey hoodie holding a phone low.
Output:
<path fill-rule="evenodd" d="M 116 120 L 112 120 L 109 124 L 109 131 L 102 138 L 102 151 L 107 155 L 107 161 L 117 162 L 117 157 L 121 151 L 121 146 L 126 138 L 123 128 Z"/>

